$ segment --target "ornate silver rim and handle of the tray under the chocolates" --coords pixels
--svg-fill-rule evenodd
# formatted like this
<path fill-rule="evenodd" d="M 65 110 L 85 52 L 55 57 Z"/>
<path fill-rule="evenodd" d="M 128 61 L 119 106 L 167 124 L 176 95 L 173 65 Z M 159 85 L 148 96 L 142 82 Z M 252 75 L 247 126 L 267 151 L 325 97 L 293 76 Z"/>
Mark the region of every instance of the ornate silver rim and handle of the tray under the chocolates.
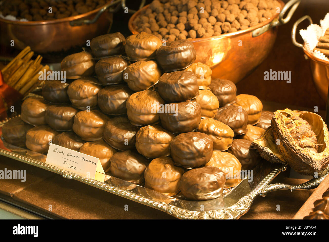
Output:
<path fill-rule="evenodd" d="M 16 116 L 18 117 L 18 116 Z M 5 119 L 0 122 L 0 125 L 6 123 L 10 119 Z M 221 208 L 221 209 L 215 209 L 215 210 L 206 210 L 206 211 L 191 211 L 187 209 L 183 209 L 180 207 L 177 207 L 175 205 L 168 205 L 161 202 L 156 202 L 154 200 L 139 196 L 135 193 L 126 191 L 124 189 L 120 189 L 118 187 L 106 184 L 104 182 L 100 182 L 94 179 L 91 179 L 89 177 L 85 177 L 82 175 L 78 175 L 72 172 L 68 172 L 64 169 L 61 169 L 56 166 L 49 165 L 47 163 L 44 163 L 42 161 L 38 161 L 33 158 L 29 158 L 20 154 L 16 154 L 12 151 L 8 151 L 5 149 L 0 148 L 0 155 L 24 162 L 26 164 L 30 164 L 39 168 L 42 168 L 44 170 L 54 172 L 56 174 L 62 175 L 64 178 L 67 179 L 73 179 L 80 182 L 83 182 L 85 184 L 88 184 L 90 186 L 96 187 L 98 189 L 110 192 L 112 194 L 118 195 L 120 197 L 127 198 L 129 200 L 139 202 L 141 204 L 156 208 L 158 210 L 164 211 L 176 218 L 179 219 L 239 219 L 243 214 L 245 214 L 253 200 L 258 196 L 266 196 L 267 192 L 274 191 L 274 190 L 282 190 L 282 189 L 289 189 L 289 190 L 299 190 L 299 189 L 310 189 L 314 188 L 316 185 L 318 185 L 326 175 L 322 175 L 314 182 L 308 181 L 306 182 L 308 186 L 303 186 L 303 184 L 299 185 L 286 185 L 286 184 L 270 184 L 270 182 L 280 173 L 284 172 L 287 169 L 286 164 L 278 164 L 278 167 L 273 169 L 269 174 L 267 174 L 264 179 L 247 195 L 242 197 L 238 202 L 233 204 L 230 207 L 227 208 Z M 296 188 L 294 188 L 296 187 Z"/>

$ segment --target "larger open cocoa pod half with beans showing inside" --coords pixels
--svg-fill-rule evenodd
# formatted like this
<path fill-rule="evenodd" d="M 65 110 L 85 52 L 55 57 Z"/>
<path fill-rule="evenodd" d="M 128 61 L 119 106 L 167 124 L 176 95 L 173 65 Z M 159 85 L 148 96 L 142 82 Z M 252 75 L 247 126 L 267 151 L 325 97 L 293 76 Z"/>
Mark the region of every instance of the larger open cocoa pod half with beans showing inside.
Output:
<path fill-rule="evenodd" d="M 297 129 L 294 131 L 297 133 L 291 133 L 291 127 L 286 126 L 286 117 L 293 116 L 307 121 L 307 123 L 301 120 L 296 121 L 297 126 L 294 128 Z M 284 160 L 293 170 L 302 175 L 315 175 L 315 173 L 321 173 L 328 166 L 329 132 L 327 125 L 319 115 L 290 109 L 277 110 L 271 120 L 271 127 L 274 139 L 280 140 L 278 148 Z M 293 138 L 296 135 L 300 140 L 296 137 Z"/>

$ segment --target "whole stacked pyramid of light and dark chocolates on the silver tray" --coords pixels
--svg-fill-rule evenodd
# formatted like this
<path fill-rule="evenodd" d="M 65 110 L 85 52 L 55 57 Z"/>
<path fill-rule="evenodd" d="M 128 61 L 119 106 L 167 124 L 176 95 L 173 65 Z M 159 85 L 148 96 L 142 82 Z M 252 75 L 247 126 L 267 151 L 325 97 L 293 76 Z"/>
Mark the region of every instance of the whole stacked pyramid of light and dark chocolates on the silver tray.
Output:
<path fill-rule="evenodd" d="M 271 114 L 233 82 L 212 80 L 190 41 L 114 33 L 90 46 L 63 59 L 70 84 L 47 80 L 43 98 L 24 100 L 21 119 L 3 127 L 8 143 L 46 153 L 52 140 L 115 177 L 190 200 L 221 196 L 240 182 L 232 172 L 258 164 L 251 141 Z"/>

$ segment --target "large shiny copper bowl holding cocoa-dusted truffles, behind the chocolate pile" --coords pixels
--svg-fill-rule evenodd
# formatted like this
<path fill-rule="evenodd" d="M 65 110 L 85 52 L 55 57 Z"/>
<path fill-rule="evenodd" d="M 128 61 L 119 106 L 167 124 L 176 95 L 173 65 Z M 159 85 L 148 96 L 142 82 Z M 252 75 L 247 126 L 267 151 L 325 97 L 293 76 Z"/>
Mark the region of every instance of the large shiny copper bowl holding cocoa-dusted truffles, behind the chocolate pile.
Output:
<path fill-rule="evenodd" d="M 239 82 L 266 58 L 276 39 L 276 26 L 287 23 L 300 3 L 300 0 L 291 0 L 285 5 L 278 1 L 281 13 L 263 23 L 233 33 L 191 39 L 196 50 L 195 61 L 210 66 L 213 78 Z M 128 28 L 133 34 L 138 34 L 133 24 L 135 18 L 148 7 L 146 5 L 129 19 Z M 288 9 L 290 12 L 283 18 Z"/>

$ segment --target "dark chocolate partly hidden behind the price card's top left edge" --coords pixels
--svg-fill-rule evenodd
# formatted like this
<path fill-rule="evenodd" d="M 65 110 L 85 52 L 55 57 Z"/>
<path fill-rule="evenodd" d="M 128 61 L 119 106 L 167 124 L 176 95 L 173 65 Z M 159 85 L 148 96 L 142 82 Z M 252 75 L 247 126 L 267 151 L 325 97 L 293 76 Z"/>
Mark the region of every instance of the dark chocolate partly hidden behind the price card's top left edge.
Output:
<path fill-rule="evenodd" d="M 53 144 L 79 151 L 84 141 L 74 132 L 63 132 L 55 136 Z"/>

